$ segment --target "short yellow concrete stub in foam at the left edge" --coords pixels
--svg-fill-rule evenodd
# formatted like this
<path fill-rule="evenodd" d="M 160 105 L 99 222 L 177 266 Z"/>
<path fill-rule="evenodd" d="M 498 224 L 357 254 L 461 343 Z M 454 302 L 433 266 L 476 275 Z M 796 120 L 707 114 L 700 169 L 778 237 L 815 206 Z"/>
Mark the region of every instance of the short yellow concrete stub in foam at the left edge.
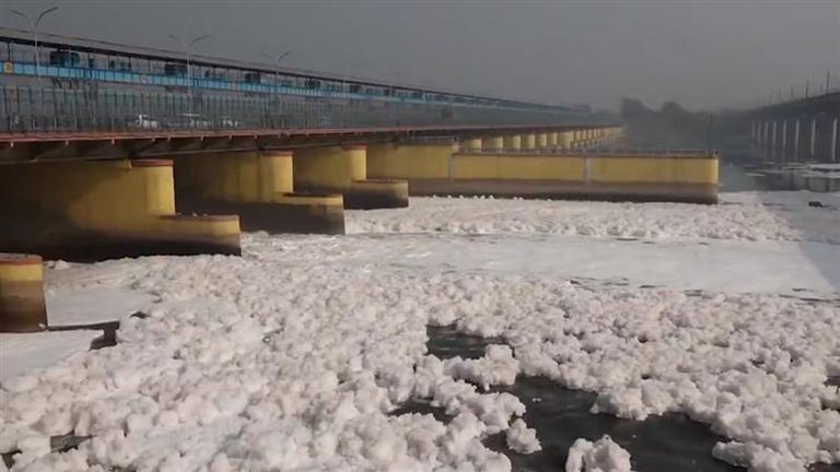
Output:
<path fill-rule="evenodd" d="M 0 332 L 45 329 L 47 309 L 40 258 L 0 252 Z"/>

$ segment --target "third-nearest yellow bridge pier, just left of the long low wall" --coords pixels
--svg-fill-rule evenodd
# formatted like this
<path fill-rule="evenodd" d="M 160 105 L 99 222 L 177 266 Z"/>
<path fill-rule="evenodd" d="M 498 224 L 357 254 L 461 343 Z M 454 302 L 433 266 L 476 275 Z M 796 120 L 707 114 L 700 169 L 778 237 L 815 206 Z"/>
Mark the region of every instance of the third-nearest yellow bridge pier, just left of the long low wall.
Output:
<path fill-rule="evenodd" d="M 408 206 L 406 180 L 368 178 L 364 145 L 295 150 L 294 188 L 303 192 L 342 193 L 346 209 Z"/>

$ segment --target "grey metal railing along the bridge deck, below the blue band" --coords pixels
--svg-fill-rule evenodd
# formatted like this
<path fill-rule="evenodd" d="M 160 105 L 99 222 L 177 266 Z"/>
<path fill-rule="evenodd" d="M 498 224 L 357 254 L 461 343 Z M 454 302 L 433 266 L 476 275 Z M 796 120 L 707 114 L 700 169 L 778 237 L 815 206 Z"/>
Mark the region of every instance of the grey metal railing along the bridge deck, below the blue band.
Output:
<path fill-rule="evenodd" d="M 389 126 L 585 125 L 570 113 L 86 86 L 0 86 L 0 132 L 302 129 Z"/>

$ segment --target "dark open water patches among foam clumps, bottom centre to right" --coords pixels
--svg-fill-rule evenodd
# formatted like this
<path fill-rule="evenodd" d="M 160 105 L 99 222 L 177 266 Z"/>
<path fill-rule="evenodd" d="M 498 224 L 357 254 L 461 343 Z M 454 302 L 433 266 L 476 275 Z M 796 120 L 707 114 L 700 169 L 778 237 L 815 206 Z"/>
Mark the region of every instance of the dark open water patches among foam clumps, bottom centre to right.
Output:
<path fill-rule="evenodd" d="M 460 334 L 454 327 L 428 327 L 429 354 L 440 358 L 459 355 L 463 358 L 478 358 L 488 344 L 503 343 L 499 338 L 480 338 Z M 592 414 L 590 408 L 595 394 L 563 388 L 544 377 L 520 376 L 511 387 L 493 388 L 491 391 L 509 392 L 522 401 L 527 411 L 524 420 L 528 427 L 537 430 L 542 450 L 521 455 L 508 449 L 504 434 L 485 440 L 488 448 L 505 453 L 515 471 L 563 470 L 569 448 L 575 439 L 597 440 L 609 435 L 612 440 L 627 449 L 637 472 L 737 472 L 745 469 L 730 465 L 712 457 L 712 447 L 727 439 L 713 434 L 700 424 L 680 414 L 651 416 L 645 421 L 622 420 L 607 414 Z M 447 423 L 443 409 L 434 408 L 428 400 L 413 400 L 394 414 L 432 414 L 438 421 Z M 837 472 L 836 465 L 817 465 L 814 472 Z"/>

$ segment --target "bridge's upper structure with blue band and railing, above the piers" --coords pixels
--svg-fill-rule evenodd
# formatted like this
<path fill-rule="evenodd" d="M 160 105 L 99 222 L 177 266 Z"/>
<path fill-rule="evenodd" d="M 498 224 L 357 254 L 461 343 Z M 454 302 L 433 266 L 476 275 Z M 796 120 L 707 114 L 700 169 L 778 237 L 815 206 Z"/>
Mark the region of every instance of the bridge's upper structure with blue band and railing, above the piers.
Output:
<path fill-rule="evenodd" d="M 0 28 L 7 132 L 590 125 L 550 106 Z M 48 86 L 45 86 L 48 85 Z M 142 118 L 138 118 L 142 117 Z"/>

